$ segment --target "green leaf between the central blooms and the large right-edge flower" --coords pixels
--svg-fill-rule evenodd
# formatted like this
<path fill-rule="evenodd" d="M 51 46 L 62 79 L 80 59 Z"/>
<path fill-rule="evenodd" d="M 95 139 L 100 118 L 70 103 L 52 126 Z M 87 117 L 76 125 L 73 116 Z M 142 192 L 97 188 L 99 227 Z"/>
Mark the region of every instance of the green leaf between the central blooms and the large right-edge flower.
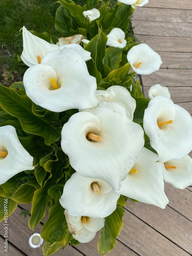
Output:
<path fill-rule="evenodd" d="M 144 111 L 148 106 L 148 102 L 150 102 L 149 99 L 147 98 L 135 98 L 136 100 L 136 109 L 134 112 L 134 118 L 133 121 L 134 122 L 139 122 L 142 123 L 143 122 L 143 116 L 144 116 Z"/>

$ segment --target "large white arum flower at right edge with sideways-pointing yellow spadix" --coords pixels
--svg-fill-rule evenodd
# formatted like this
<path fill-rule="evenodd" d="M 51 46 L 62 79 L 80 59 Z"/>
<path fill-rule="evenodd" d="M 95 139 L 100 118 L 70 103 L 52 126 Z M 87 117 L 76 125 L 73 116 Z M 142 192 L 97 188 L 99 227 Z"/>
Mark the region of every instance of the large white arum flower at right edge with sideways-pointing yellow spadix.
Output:
<path fill-rule="evenodd" d="M 192 149 L 191 116 L 167 97 L 159 95 L 150 100 L 143 128 L 160 162 L 180 160 Z"/>

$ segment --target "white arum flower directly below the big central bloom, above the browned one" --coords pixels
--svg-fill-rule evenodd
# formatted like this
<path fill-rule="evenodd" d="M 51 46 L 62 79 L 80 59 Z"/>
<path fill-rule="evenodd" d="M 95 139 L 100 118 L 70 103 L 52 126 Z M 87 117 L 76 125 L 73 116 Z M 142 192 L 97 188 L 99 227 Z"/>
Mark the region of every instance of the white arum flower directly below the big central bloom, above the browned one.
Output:
<path fill-rule="evenodd" d="M 59 202 L 73 217 L 105 218 L 116 209 L 119 197 L 107 182 L 75 173 L 66 182 Z"/>

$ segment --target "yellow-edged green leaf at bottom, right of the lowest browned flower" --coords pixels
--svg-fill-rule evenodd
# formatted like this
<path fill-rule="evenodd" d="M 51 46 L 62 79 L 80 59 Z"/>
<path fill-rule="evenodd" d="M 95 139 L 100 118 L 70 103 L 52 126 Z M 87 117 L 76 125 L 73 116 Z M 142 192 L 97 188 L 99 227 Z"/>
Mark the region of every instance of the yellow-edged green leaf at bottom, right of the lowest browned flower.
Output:
<path fill-rule="evenodd" d="M 123 227 L 123 215 L 123 207 L 117 207 L 110 216 L 104 218 L 104 227 L 101 229 L 102 233 L 97 244 L 98 253 L 106 255 L 113 250 L 117 243 L 116 238 Z"/>

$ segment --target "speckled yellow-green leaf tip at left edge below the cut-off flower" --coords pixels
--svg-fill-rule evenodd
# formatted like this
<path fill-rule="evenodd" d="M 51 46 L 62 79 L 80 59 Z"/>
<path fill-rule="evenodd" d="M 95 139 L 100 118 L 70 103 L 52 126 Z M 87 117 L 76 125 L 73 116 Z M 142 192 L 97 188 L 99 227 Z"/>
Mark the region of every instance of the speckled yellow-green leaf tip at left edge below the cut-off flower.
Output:
<path fill-rule="evenodd" d="M 2 222 L 3 220 L 7 221 L 7 216 L 10 216 L 13 211 L 16 210 L 16 208 L 17 203 L 14 202 L 12 199 L 0 197 L 0 222 Z"/>

